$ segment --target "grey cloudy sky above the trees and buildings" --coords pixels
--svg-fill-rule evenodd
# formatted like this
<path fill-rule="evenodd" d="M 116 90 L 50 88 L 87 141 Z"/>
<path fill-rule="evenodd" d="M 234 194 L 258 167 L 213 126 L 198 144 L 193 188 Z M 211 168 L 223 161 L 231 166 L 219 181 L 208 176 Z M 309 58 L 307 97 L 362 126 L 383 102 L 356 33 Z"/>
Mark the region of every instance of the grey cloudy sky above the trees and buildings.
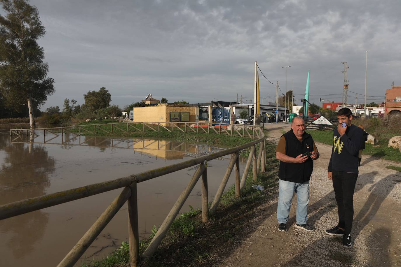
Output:
<path fill-rule="evenodd" d="M 399 0 L 31 0 L 47 34 L 49 76 L 56 92 L 42 109 L 64 98 L 83 103 L 106 87 L 123 107 L 152 94 L 169 102 L 245 102 L 253 98 L 254 62 L 271 81 L 301 98 L 310 70 L 311 102 L 342 101 L 344 66 L 349 90 L 380 101 L 401 85 Z M 259 73 L 260 75 L 260 73 Z M 261 101 L 275 85 L 260 75 Z M 348 102 L 355 94 L 349 93 Z M 364 96 L 358 95 L 358 102 Z M 298 101 L 299 102 L 299 101 Z"/>

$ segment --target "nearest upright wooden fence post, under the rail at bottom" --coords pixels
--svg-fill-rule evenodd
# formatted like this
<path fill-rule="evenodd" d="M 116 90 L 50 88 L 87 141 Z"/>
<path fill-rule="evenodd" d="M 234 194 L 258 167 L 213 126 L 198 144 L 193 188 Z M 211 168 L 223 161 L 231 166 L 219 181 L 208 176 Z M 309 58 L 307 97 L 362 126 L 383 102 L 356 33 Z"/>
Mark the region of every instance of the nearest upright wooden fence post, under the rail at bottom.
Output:
<path fill-rule="evenodd" d="M 130 266 L 136 267 L 139 262 L 139 230 L 138 230 L 138 197 L 137 183 L 130 185 L 131 196 L 128 198 L 128 241 L 130 244 Z"/>

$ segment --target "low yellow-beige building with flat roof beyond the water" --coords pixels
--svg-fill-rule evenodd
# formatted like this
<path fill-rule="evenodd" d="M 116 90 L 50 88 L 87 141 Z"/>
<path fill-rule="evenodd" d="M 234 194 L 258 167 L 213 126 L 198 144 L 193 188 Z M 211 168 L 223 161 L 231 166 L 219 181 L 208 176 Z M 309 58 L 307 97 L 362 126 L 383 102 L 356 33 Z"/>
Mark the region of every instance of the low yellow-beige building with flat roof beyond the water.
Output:
<path fill-rule="evenodd" d="M 197 115 L 199 115 L 197 106 L 165 103 L 134 108 L 133 122 L 195 122 Z"/>

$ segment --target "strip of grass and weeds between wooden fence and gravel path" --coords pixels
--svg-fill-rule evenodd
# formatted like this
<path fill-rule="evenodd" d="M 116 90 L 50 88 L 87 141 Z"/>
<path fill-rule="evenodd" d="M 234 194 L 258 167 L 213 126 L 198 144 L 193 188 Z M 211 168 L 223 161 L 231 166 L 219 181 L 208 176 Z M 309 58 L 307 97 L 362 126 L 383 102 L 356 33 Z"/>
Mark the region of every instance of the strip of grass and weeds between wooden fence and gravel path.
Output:
<path fill-rule="evenodd" d="M 237 144 L 236 144 L 237 145 Z M 264 205 L 277 190 L 277 171 L 279 161 L 275 159 L 275 144 L 267 143 L 267 161 L 265 173 L 257 175 L 257 181 L 252 180 L 249 171 L 241 198 L 235 197 L 234 185 L 222 196 L 217 212 L 208 223 L 202 223 L 201 211 L 193 209 L 182 213 L 174 220 L 166 237 L 151 259 L 142 260 L 141 267 L 153 266 L 209 266 L 211 256 L 224 257 L 231 253 L 231 247 L 239 238 L 246 238 L 245 229 L 249 220 L 260 214 L 257 207 Z M 264 191 L 257 191 L 252 185 L 263 185 Z M 156 233 L 152 230 L 149 239 L 140 242 L 140 253 L 143 253 Z M 93 261 L 83 266 L 117 267 L 128 265 L 129 245 L 123 242 L 109 257 L 101 261 Z"/>

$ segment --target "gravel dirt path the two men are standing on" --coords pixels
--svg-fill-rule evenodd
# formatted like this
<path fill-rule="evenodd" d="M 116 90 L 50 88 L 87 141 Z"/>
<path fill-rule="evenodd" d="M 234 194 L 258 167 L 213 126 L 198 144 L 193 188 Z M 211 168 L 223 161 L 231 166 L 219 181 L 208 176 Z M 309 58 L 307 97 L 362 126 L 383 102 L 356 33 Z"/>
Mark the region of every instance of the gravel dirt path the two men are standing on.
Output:
<path fill-rule="evenodd" d="M 289 124 L 265 124 L 268 140 L 278 141 Z M 289 230 L 277 231 L 277 195 L 253 219 L 255 229 L 221 266 L 401 266 L 401 173 L 385 168 L 399 163 L 363 155 L 354 195 L 354 247 L 341 246 L 340 237 L 324 230 L 338 222 L 332 182 L 327 179 L 331 146 L 316 143 L 320 158 L 310 182 L 309 223 L 313 232 L 294 227 L 296 197 Z M 278 179 L 278 178 L 277 178 Z"/>

